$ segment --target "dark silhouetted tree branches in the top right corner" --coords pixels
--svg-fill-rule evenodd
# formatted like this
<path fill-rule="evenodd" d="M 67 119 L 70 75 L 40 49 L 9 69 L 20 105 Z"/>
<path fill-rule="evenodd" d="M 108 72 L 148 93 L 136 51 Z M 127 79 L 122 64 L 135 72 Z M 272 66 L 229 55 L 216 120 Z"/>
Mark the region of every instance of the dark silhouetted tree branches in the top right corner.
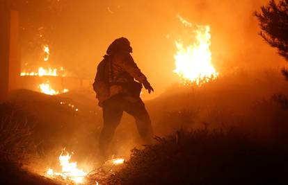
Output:
<path fill-rule="evenodd" d="M 261 7 L 261 12 L 255 12 L 255 16 L 262 29 L 259 35 L 288 61 L 288 0 L 279 3 L 270 0 L 267 6 Z M 288 71 L 283 69 L 282 73 L 288 80 Z"/>

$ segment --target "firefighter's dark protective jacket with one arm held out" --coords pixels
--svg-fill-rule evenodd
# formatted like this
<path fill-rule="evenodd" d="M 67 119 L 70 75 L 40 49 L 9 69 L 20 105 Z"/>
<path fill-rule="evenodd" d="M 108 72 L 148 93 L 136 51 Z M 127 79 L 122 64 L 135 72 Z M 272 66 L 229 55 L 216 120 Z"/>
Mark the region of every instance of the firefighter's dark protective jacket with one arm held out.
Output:
<path fill-rule="evenodd" d="M 137 85 L 134 79 L 140 84 Z M 132 56 L 128 52 L 118 52 L 105 55 L 99 63 L 93 88 L 99 105 L 102 106 L 104 100 L 116 94 L 129 93 L 134 90 L 138 91 L 136 94 L 140 94 L 141 84 L 145 83 L 147 83 L 147 78 L 137 67 Z"/>

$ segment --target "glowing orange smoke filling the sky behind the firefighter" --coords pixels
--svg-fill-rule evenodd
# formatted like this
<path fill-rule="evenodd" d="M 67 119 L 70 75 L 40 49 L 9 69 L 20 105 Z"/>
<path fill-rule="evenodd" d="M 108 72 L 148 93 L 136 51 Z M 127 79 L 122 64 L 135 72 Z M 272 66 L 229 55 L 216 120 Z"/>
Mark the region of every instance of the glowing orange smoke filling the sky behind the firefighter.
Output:
<path fill-rule="evenodd" d="M 184 28 L 177 15 L 193 24 L 211 26 L 212 62 L 220 73 L 239 67 L 281 66 L 284 60 L 257 35 L 259 27 L 253 12 L 267 2 L 63 0 L 51 3 L 49 7 L 38 2 L 38 6 L 43 6 L 38 8 L 52 12 L 53 16 L 48 18 L 43 11 L 24 4 L 22 10 L 26 11 L 22 12 L 22 26 L 29 23 L 49 27 L 42 33 L 46 39 L 41 39 L 38 45 L 51 46 L 50 61 L 65 67 L 74 76 L 90 79 L 94 78 L 97 64 L 109 44 L 117 37 L 127 37 L 134 48 L 134 60 L 155 87 L 156 96 L 179 80 L 173 73 L 173 55 L 175 39 Z M 27 19 L 30 21 L 23 21 Z M 35 35 L 31 33 L 26 30 L 22 34 L 26 41 L 22 42 L 22 48 L 35 41 Z M 37 62 L 33 61 L 31 53 L 22 49 L 22 63 Z"/>

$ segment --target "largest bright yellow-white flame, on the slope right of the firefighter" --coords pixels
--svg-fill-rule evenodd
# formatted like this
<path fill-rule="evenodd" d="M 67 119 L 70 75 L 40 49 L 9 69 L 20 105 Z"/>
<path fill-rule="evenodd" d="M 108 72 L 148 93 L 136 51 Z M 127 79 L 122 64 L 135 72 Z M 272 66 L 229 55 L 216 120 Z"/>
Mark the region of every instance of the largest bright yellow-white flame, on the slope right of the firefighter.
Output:
<path fill-rule="evenodd" d="M 179 20 L 186 27 L 193 27 L 189 21 L 178 16 Z M 198 86 L 214 80 L 218 72 L 211 63 L 211 35 L 209 26 L 195 26 L 195 42 L 184 46 L 183 42 L 175 41 L 177 52 L 174 55 L 177 73 L 184 85 L 195 83 Z"/>

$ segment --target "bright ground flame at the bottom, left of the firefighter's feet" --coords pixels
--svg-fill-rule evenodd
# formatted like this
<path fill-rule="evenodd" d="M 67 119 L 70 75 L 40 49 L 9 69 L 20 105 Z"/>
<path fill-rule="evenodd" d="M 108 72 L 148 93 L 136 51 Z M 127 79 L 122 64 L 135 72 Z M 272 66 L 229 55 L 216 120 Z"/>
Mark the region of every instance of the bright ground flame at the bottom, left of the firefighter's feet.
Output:
<path fill-rule="evenodd" d="M 64 151 L 65 149 L 63 149 L 63 152 Z M 67 153 L 67 155 L 63 155 L 63 152 L 61 152 L 61 155 L 59 156 L 62 173 L 56 173 L 54 170 L 49 168 L 47 170 L 47 175 L 50 177 L 60 176 L 63 177 L 63 179 L 70 179 L 76 184 L 83 183 L 84 178 L 88 173 L 86 173 L 83 169 L 77 168 L 77 162 L 70 162 L 72 155 L 69 153 Z"/>

